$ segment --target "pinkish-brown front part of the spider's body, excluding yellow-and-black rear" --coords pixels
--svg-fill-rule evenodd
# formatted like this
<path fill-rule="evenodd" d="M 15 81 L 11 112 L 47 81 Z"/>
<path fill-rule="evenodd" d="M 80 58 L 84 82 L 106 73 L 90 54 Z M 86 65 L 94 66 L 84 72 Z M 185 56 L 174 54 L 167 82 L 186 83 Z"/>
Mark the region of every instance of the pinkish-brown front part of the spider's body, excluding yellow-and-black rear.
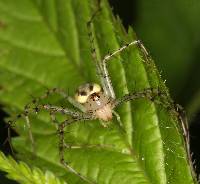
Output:
<path fill-rule="evenodd" d="M 87 112 L 92 113 L 98 119 L 103 121 L 112 119 L 111 100 L 103 92 L 91 94 L 84 106 Z"/>

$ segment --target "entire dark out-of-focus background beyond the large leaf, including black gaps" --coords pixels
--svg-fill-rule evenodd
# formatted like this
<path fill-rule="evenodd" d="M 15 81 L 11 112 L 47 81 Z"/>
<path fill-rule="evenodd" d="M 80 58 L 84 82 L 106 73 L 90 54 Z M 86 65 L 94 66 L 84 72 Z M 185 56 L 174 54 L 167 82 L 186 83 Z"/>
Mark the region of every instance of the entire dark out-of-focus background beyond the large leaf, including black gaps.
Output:
<path fill-rule="evenodd" d="M 191 153 L 200 173 L 200 3 L 197 0 L 109 0 L 128 29 L 131 25 L 150 51 L 173 99 L 189 118 Z M 199 103 L 198 103 L 199 101 Z M 0 112 L 1 122 L 6 114 Z M 14 133 L 13 133 L 14 135 Z M 0 149 L 9 154 L 5 124 L 0 123 Z M 13 183 L 0 174 L 1 183 Z"/>

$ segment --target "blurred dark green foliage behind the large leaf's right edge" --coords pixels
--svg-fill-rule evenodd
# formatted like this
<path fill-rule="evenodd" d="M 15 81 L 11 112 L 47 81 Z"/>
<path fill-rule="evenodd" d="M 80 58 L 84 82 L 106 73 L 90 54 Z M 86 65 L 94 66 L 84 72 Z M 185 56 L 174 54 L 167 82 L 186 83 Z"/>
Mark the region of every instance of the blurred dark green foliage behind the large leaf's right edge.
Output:
<path fill-rule="evenodd" d="M 200 110 L 200 1 L 138 0 L 135 28 L 189 119 Z M 159 16 L 158 16 L 159 15 Z"/>

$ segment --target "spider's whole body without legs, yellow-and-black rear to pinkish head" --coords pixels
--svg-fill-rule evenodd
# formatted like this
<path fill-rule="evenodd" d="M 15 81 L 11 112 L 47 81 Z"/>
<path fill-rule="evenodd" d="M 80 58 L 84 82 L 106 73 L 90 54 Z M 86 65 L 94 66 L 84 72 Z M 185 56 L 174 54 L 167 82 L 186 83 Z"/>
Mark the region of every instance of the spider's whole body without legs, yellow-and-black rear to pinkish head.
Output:
<path fill-rule="evenodd" d="M 81 85 L 75 100 L 85 107 L 86 112 L 91 113 L 98 119 L 109 121 L 112 119 L 112 98 L 106 96 L 102 88 L 95 83 Z"/>

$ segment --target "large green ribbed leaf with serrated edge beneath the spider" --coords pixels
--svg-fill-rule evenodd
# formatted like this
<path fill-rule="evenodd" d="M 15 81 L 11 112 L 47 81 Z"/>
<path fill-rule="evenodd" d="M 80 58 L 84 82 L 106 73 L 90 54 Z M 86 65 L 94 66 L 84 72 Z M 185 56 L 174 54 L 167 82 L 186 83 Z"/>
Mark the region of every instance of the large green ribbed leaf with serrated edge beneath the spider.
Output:
<path fill-rule="evenodd" d="M 101 7 L 93 32 L 98 57 L 103 58 L 136 37 L 131 28 L 125 32 L 106 0 Z M 83 82 L 99 82 L 86 27 L 96 9 L 97 2 L 89 0 L 0 1 L 4 25 L 0 29 L 0 99 L 12 117 L 31 101 L 30 94 L 40 96 L 45 88 L 59 87 L 73 96 Z M 149 87 L 167 93 L 153 61 L 147 61 L 136 46 L 108 65 L 117 98 Z M 69 105 L 57 96 L 47 101 Z M 48 113 L 30 117 L 35 152 L 22 120 L 15 127 L 20 136 L 12 142 L 18 158 L 70 184 L 196 183 L 179 121 L 162 102 L 138 99 L 123 103 L 117 112 L 125 131 L 115 119 L 109 128 L 99 121 L 66 127 L 65 141 L 71 148 L 65 150 L 65 161 L 76 172 L 59 162 L 57 128 Z"/>

